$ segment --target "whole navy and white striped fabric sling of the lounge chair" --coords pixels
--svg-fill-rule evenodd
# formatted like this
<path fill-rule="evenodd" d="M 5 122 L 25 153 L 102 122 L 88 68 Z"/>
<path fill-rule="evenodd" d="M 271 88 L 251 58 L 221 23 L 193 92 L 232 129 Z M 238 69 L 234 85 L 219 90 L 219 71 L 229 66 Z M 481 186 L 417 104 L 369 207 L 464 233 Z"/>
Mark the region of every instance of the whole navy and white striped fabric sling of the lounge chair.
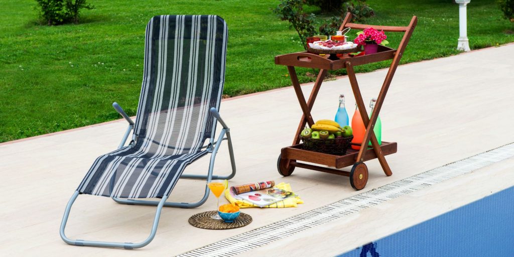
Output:
<path fill-rule="evenodd" d="M 144 76 L 133 146 L 96 159 L 78 190 L 120 198 L 168 195 L 204 156 L 225 81 L 228 30 L 215 15 L 162 15 L 146 26 Z"/>

